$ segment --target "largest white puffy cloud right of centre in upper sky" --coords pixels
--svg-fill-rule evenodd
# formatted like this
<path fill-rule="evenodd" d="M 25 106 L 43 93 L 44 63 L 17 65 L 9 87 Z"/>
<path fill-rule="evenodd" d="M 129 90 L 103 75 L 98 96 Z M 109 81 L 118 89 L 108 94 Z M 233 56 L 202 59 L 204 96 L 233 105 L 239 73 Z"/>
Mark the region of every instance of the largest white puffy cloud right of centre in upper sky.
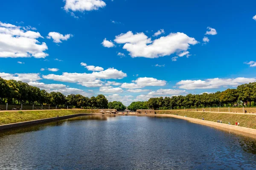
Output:
<path fill-rule="evenodd" d="M 190 48 L 190 45 L 198 43 L 184 33 L 171 33 L 166 37 L 160 37 L 154 41 L 143 32 L 133 34 L 128 31 L 116 36 L 116 43 L 125 44 L 123 49 L 130 52 L 131 57 L 157 58 L 169 56 L 174 53 L 182 53 Z"/>

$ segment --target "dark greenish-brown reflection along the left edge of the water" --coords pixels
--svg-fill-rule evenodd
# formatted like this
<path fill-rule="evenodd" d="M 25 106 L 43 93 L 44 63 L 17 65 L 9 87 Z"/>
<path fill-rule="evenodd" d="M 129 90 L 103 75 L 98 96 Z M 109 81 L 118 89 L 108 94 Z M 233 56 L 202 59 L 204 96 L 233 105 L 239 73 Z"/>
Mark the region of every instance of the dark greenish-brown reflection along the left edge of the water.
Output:
<path fill-rule="evenodd" d="M 115 116 L 114 115 L 78 116 L 78 117 L 73 117 L 70 119 L 64 119 L 64 120 L 60 120 L 60 121 L 41 123 L 41 124 L 37 124 L 37 125 L 29 125 L 26 127 L 17 127 L 17 128 L 11 129 L 11 130 L 1 131 L 0 137 L 6 136 L 6 135 L 14 135 L 14 134 L 18 134 L 18 133 L 26 133 L 26 132 L 44 130 L 47 127 L 63 125 L 65 122 L 74 122 L 74 121 L 81 121 L 81 120 L 107 120 L 108 117 L 115 117 Z"/>

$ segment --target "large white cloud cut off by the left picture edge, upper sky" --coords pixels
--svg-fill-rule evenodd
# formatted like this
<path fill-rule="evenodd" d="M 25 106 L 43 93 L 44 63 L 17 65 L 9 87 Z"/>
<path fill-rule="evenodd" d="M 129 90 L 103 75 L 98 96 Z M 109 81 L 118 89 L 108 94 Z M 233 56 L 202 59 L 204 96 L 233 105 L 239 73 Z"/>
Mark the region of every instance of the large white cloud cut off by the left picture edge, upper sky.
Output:
<path fill-rule="evenodd" d="M 35 57 L 45 58 L 48 49 L 39 32 L 27 31 L 26 28 L 0 22 L 0 58 Z"/>

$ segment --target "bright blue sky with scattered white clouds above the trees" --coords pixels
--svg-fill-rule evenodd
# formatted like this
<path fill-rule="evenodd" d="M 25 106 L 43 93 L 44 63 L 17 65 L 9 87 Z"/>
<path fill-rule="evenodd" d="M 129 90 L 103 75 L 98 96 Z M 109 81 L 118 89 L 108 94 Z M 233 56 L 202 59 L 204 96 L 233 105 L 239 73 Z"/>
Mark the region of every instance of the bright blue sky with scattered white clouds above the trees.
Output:
<path fill-rule="evenodd" d="M 256 81 L 255 5 L 3 1 L 0 77 L 66 95 L 104 94 L 125 105 L 236 88 Z"/>

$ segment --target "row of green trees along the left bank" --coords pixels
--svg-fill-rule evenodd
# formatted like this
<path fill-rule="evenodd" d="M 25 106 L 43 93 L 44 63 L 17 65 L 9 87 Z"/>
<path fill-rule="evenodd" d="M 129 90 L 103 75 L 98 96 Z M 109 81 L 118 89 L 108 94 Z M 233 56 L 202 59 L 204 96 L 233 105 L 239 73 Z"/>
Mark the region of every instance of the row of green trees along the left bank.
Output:
<path fill-rule="evenodd" d="M 125 110 L 121 102 L 108 102 L 102 94 L 94 97 L 85 97 L 80 94 L 70 94 L 65 96 L 60 92 L 50 92 L 40 90 L 25 82 L 15 80 L 5 80 L 0 77 L 0 104 L 14 105 L 57 105 L 58 107 L 86 108 L 86 109 L 117 109 Z"/>

